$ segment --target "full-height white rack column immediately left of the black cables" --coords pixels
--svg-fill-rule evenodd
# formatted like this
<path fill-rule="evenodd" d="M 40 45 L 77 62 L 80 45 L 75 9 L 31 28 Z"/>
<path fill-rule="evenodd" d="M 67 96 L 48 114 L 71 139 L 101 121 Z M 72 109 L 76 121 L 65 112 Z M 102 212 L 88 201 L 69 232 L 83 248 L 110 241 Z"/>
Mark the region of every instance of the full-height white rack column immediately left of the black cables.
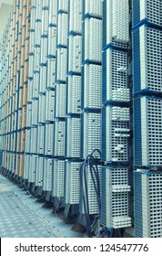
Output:
<path fill-rule="evenodd" d="M 79 169 L 81 143 L 81 58 L 82 58 L 82 3 L 68 1 L 66 75 L 66 214 L 78 213 Z"/>

